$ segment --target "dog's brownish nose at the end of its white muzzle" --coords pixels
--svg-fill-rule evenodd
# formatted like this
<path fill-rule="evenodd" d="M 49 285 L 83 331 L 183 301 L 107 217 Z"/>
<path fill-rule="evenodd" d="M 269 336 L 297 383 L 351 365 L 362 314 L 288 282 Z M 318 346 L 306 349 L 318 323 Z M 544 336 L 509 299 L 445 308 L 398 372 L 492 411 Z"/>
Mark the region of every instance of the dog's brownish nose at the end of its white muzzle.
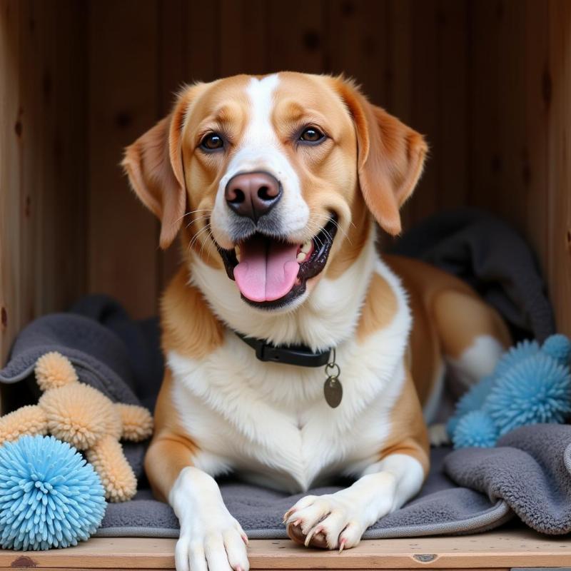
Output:
<path fill-rule="evenodd" d="M 224 196 L 236 214 L 257 222 L 280 200 L 281 184 L 268 173 L 237 174 L 228 181 Z"/>

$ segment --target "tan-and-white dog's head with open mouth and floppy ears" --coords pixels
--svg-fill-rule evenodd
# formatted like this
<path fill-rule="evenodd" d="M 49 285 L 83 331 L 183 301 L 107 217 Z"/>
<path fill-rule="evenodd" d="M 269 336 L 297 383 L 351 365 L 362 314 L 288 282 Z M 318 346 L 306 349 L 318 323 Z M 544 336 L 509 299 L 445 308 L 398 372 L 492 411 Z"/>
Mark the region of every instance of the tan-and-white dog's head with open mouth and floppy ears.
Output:
<path fill-rule="evenodd" d="M 161 220 L 162 248 L 183 228 L 188 256 L 224 268 L 246 303 L 277 310 L 358 257 L 370 213 L 400 232 L 426 151 L 352 82 L 284 72 L 183 89 L 123 166 Z"/>

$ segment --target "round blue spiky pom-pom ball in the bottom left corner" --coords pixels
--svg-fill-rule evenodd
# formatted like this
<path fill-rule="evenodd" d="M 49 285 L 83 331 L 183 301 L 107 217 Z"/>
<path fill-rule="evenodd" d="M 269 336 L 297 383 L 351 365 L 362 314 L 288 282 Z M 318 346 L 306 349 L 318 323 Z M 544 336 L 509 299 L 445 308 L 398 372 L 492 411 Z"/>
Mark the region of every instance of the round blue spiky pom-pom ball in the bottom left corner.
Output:
<path fill-rule="evenodd" d="M 0 448 L 0 545 L 46 550 L 77 545 L 99 527 L 105 492 L 90 464 L 53 436 Z"/>

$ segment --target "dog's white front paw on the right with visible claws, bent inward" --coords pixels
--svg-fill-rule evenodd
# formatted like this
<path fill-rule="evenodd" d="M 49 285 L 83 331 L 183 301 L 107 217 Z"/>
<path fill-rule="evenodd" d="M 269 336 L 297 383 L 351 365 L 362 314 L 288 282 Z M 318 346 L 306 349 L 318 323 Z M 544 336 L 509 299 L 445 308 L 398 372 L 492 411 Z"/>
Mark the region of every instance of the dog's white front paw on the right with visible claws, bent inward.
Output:
<path fill-rule="evenodd" d="M 360 542 L 369 523 L 351 495 L 344 492 L 302 497 L 283 520 L 290 538 L 305 547 L 342 551 Z"/>

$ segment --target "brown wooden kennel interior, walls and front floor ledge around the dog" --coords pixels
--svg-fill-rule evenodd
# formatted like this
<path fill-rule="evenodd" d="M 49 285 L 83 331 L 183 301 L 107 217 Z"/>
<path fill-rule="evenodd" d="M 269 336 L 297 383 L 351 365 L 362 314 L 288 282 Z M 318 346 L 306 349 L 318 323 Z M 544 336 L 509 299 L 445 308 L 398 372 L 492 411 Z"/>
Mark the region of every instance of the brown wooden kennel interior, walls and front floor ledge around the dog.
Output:
<path fill-rule="evenodd" d="M 430 158 L 405 227 L 461 205 L 509 221 L 571 334 L 571 1 L 0 0 L 3 363 L 26 323 L 84 293 L 111 294 L 136 317 L 156 313 L 177 251 L 158 250 L 158 223 L 118 167 L 122 148 L 166 114 L 183 81 L 280 69 L 343 71 L 425 133 Z M 512 544 L 477 536 L 480 555 L 465 538 L 391 540 L 343 560 L 292 560 L 279 555 L 290 553 L 283 542 L 258 542 L 253 565 L 537 567 L 563 565 L 563 553 L 571 563 L 570 540 L 515 533 Z M 171 544 L 156 541 L 97 540 L 75 559 L 32 560 L 172 565 Z M 517 560 L 482 555 L 508 544 L 527 553 L 526 542 L 530 555 Z M 387 545 L 392 559 L 381 557 Z M 415 560 L 423 549 L 436 555 Z M 16 559 L 0 555 L 0 567 L 31 565 Z"/>

